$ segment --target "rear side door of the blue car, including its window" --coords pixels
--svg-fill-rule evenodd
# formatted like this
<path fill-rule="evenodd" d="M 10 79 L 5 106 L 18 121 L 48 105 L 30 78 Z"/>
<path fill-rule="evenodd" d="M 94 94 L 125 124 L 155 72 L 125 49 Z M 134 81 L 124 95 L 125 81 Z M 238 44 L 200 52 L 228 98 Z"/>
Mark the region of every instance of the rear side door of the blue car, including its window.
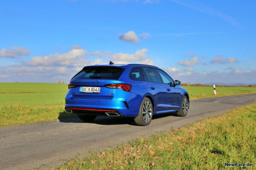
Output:
<path fill-rule="evenodd" d="M 149 88 L 154 97 L 156 113 L 166 111 L 166 87 L 163 86 L 157 71 L 154 68 L 142 68 L 144 81 L 148 80 Z"/>

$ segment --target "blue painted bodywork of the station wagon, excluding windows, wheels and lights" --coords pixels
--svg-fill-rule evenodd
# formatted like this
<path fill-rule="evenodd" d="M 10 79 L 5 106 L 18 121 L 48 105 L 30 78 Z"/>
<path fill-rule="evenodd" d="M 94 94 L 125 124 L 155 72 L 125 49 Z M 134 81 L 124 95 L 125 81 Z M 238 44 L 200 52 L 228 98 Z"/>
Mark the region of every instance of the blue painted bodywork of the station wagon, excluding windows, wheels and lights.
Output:
<path fill-rule="evenodd" d="M 118 80 L 110 79 L 71 79 L 70 84 L 77 85 L 70 88 L 65 96 L 65 108 L 96 108 L 113 109 L 121 113 L 122 116 L 138 116 L 141 102 L 145 97 L 151 99 L 153 104 L 153 115 L 179 111 L 183 96 L 186 95 L 189 100 L 189 94 L 180 85 L 168 85 L 158 82 L 137 81 L 129 78 L 132 68 L 149 67 L 148 65 L 92 65 L 87 67 L 122 67 L 125 68 Z M 160 69 L 161 70 L 161 69 Z M 122 89 L 111 89 L 104 87 L 105 84 L 125 83 L 131 84 L 131 92 Z M 101 86 L 100 94 L 79 93 L 80 86 Z M 154 87 L 154 90 L 151 89 Z M 170 89 L 170 91 L 167 91 Z M 165 92 L 166 91 L 166 92 Z M 109 95 L 101 95 L 104 92 Z M 125 102 L 128 105 L 125 105 Z"/>

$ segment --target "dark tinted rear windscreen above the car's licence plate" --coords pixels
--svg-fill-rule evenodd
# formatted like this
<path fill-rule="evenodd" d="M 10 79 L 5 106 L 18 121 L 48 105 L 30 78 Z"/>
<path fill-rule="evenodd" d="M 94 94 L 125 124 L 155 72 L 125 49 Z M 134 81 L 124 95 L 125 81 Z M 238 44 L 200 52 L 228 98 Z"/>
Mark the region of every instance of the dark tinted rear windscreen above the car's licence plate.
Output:
<path fill-rule="evenodd" d="M 72 79 L 119 79 L 125 68 L 85 67 Z"/>

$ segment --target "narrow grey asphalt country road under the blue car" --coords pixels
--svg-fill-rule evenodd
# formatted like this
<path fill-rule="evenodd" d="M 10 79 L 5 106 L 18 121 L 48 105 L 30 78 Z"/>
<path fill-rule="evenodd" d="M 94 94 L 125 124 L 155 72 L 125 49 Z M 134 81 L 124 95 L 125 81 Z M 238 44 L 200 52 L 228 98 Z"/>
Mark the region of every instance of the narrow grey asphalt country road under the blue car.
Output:
<path fill-rule="evenodd" d="M 93 123 L 73 118 L 0 127 L 0 170 L 58 167 L 79 153 L 84 154 L 78 158 L 84 157 L 90 150 L 105 150 L 161 130 L 192 124 L 255 100 L 256 94 L 193 100 L 186 117 L 177 117 L 175 113 L 157 115 L 146 127 L 119 117 L 98 117 Z"/>

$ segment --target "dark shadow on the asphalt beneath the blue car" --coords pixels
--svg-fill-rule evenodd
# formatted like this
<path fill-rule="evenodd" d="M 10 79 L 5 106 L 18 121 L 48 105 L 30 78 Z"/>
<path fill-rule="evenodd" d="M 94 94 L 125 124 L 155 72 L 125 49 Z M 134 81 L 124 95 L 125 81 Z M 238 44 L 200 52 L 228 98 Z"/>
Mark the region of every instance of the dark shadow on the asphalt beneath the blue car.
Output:
<path fill-rule="evenodd" d="M 65 118 L 67 117 L 67 114 L 70 114 L 70 113 L 60 112 L 59 114 L 60 116 L 58 117 L 58 119 L 62 123 L 93 123 L 98 125 L 135 125 L 136 126 L 136 124 L 134 123 L 134 118 L 131 118 L 131 117 L 98 116 L 93 122 L 83 122 L 78 117 L 74 117 L 76 116 L 75 114 L 70 115 L 70 118 Z M 154 119 L 161 119 L 168 116 L 177 116 L 177 114 L 175 112 L 158 114 L 158 115 L 154 115 L 152 120 L 154 121 Z"/>

